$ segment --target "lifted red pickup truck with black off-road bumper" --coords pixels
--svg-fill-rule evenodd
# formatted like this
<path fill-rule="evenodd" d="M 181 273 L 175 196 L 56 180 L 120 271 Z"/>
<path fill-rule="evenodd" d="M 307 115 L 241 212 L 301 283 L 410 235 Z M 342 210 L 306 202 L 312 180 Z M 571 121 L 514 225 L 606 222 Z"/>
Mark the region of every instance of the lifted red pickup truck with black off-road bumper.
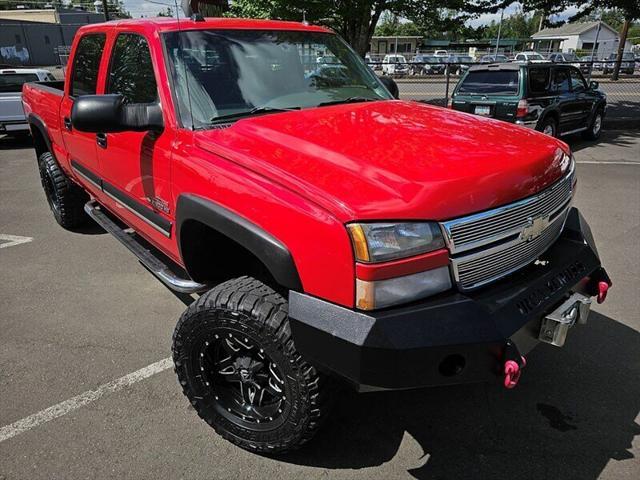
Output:
<path fill-rule="evenodd" d="M 301 445 L 341 383 L 512 388 L 611 285 L 566 144 L 394 96 L 325 28 L 199 18 L 83 27 L 24 87 L 58 223 L 201 293 L 175 370 L 243 448 Z"/>

